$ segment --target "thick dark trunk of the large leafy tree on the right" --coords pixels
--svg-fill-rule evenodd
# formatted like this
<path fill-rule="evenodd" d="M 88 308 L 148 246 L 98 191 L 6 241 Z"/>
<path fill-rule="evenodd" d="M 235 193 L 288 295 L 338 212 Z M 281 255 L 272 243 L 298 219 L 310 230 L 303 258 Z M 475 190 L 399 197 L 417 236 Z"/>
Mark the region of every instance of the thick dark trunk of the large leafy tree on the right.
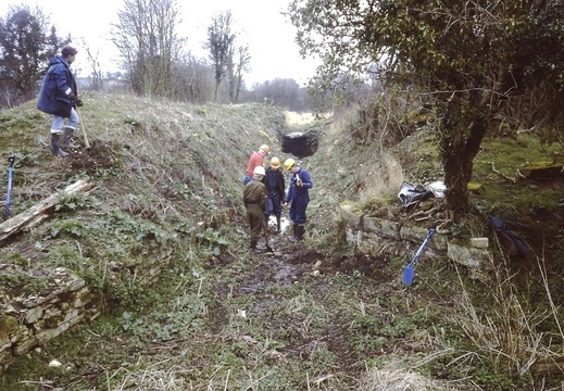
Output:
<path fill-rule="evenodd" d="M 467 101 L 465 102 L 467 103 Z M 442 106 L 440 152 L 447 186 L 447 206 L 455 216 L 469 212 L 468 182 L 474 157 L 487 131 L 480 108 L 468 108 L 453 99 Z M 484 109 L 484 108 L 481 108 Z"/>

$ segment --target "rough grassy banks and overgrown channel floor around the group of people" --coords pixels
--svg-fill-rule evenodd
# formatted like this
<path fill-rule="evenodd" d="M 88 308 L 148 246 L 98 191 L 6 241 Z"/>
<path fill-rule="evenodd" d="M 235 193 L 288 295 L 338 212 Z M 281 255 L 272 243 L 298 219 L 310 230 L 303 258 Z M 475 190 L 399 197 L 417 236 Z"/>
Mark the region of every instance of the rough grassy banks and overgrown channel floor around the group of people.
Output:
<path fill-rule="evenodd" d="M 98 94 L 84 101 L 92 148 L 70 160 L 48 153 L 50 122 L 33 103 L 1 113 L 0 144 L 18 162 L 14 214 L 76 178 L 96 182 L 0 249 L 3 262 L 18 266 L 15 275 L 2 274 L 2 298 L 7 304 L 14 292 L 38 292 L 49 278 L 40 269 L 67 267 L 99 289 L 108 311 L 12 364 L 3 388 L 560 387 L 560 374 L 532 365 L 560 354 L 563 249 L 559 241 L 539 244 L 562 235 L 562 225 L 555 219 L 539 231 L 539 213 L 557 216 L 561 184 L 513 184 L 484 163 L 496 162 L 510 176 L 519 161 L 553 150 L 528 137 L 485 144 L 475 174 L 484 190 L 473 195 L 479 213 L 451 231 L 454 239 L 486 235 L 489 214 L 518 217 L 535 224 L 519 230 L 535 245 L 530 260 L 504 257 L 494 247 L 485 280 L 447 260 L 427 260 L 417 272 L 421 283 L 406 288 L 400 283 L 404 258 L 365 256 L 339 241 L 337 207 L 353 200 L 368 214 L 410 219 L 397 200 L 401 181 L 441 179 L 428 129 L 383 150 L 356 144 L 346 118 L 317 123 L 319 150 L 303 161 L 314 181 L 308 239 L 294 245 L 286 235 L 273 238 L 277 254 L 267 256 L 246 251 L 245 164 L 262 143 L 286 157 L 281 136 L 304 124 L 262 105 Z M 163 249 L 172 251 L 172 266 L 152 289 L 133 277 L 104 280 L 111 262 L 142 263 Z M 49 366 L 53 360 L 61 366 Z"/>

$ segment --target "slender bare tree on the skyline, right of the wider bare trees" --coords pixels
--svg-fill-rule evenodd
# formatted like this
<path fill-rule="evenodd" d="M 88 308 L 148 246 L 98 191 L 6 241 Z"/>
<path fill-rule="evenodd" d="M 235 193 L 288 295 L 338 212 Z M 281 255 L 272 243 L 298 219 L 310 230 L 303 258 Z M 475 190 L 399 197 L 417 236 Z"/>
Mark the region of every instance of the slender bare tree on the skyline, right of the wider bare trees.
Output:
<path fill-rule="evenodd" d="M 214 68 L 215 102 L 217 102 L 220 85 L 228 74 L 229 64 L 233 64 L 233 47 L 236 34 L 231 31 L 231 11 L 225 11 L 213 16 L 212 23 L 208 27 L 208 41 L 204 43 L 204 49 L 209 51 Z"/>

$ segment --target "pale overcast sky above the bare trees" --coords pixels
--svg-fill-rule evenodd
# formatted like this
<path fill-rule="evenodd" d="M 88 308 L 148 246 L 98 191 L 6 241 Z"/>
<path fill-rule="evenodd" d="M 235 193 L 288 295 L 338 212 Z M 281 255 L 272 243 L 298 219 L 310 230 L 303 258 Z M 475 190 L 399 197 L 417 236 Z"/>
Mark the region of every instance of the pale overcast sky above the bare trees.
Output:
<path fill-rule="evenodd" d="M 274 78 L 293 78 L 304 84 L 313 76 L 317 62 L 303 60 L 294 43 L 296 30 L 280 14 L 290 0 L 178 0 L 181 25 L 178 36 L 188 38 L 187 50 L 202 58 L 202 45 L 212 16 L 218 12 L 231 11 L 235 31 L 239 33 L 239 45 L 249 45 L 251 72 L 243 78 L 249 87 Z M 89 74 L 84 40 L 92 53 L 100 52 L 100 59 L 115 59 L 116 50 L 109 40 L 112 23 L 117 22 L 116 12 L 123 8 L 123 0 L 1 0 L 0 16 L 8 14 L 10 5 L 38 5 L 55 25 L 60 36 L 71 33 L 78 49 L 75 71 Z M 82 50 L 83 49 L 83 50 Z M 105 61 L 104 64 L 108 64 Z M 115 63 L 118 63 L 116 59 Z M 103 66 L 110 67 L 110 65 Z M 104 70 L 105 71 L 105 70 Z M 113 71 L 113 70 L 108 70 Z"/>

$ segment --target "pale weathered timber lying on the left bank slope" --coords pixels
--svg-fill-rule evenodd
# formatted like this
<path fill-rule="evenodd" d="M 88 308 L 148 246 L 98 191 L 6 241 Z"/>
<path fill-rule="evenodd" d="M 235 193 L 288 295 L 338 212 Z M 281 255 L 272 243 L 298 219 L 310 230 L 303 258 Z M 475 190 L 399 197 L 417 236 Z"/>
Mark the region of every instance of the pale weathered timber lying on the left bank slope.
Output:
<path fill-rule="evenodd" d="M 49 195 L 47 199 L 35 204 L 25 212 L 15 215 L 0 224 L 0 244 L 8 238 L 21 232 L 24 229 L 30 228 L 48 217 L 48 214 L 54 210 L 54 206 L 61 201 L 63 197 L 80 193 L 89 190 L 92 184 L 88 179 L 79 179 L 76 182 L 67 186 L 64 190 Z"/>

